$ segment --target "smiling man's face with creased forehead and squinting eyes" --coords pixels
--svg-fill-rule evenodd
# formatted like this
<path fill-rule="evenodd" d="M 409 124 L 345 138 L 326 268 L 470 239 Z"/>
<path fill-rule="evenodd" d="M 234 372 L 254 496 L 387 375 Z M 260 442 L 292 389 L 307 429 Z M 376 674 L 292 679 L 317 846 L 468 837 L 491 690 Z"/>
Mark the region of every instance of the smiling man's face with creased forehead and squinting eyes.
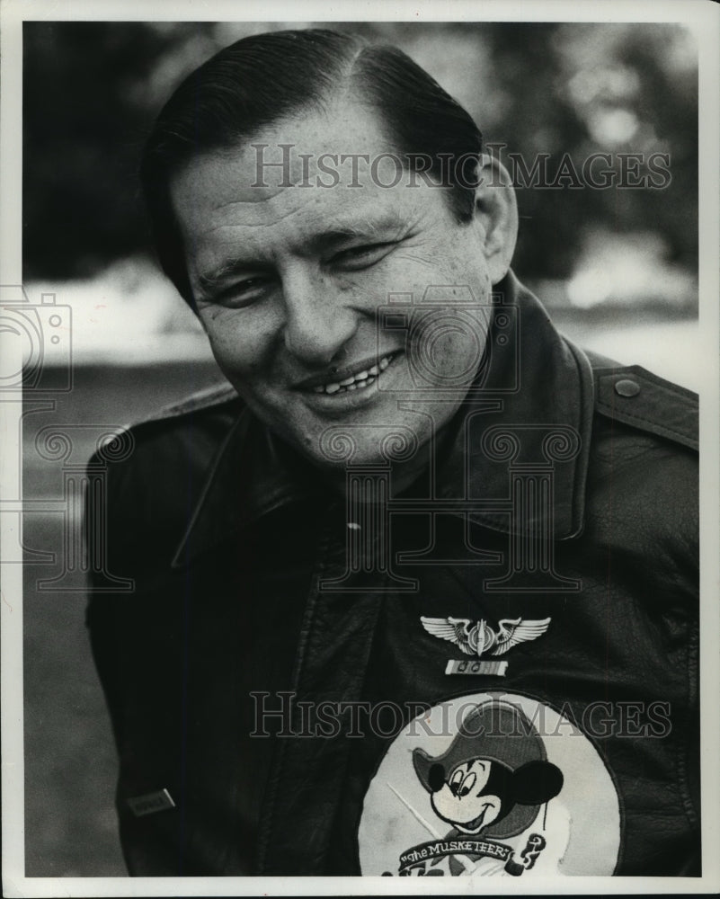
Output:
<path fill-rule="evenodd" d="M 287 170 L 267 165 L 267 186 L 253 186 L 260 151 L 252 144 L 267 145 L 266 164 L 282 160 L 280 144 L 294 145 L 293 186 Z M 375 114 L 345 102 L 268 126 L 251 146 L 200 156 L 171 182 L 220 368 L 272 431 L 321 467 L 338 464 L 321 446 L 330 428 L 350 430 L 355 463 L 380 461 L 381 441 L 398 426 L 426 445 L 457 411 L 482 357 L 486 322 L 476 311 L 468 327 L 467 288 L 476 304 L 487 302 L 484 226 L 459 224 L 447 190 L 420 178 L 411 187 L 405 173 L 382 186 L 396 181 L 387 158 L 374 173 L 360 161 L 354 174 L 351 161 L 336 159 L 340 182 L 320 186 L 334 180 L 327 156 L 325 172 L 317 167 L 324 154 L 373 160 L 389 151 Z M 442 304 L 421 307 L 418 318 L 425 291 L 438 286 Z M 413 295 L 408 327 L 397 318 L 400 326 L 380 326 L 391 294 Z M 418 411 L 399 407 L 412 398 L 423 400 Z"/>

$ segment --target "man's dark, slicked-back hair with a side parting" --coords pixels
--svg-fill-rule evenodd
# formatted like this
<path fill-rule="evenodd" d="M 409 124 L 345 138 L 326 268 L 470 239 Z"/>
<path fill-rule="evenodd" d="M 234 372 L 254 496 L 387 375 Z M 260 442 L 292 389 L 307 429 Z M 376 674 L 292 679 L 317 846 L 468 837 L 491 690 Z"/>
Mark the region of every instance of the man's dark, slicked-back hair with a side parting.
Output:
<path fill-rule="evenodd" d="M 339 31 L 274 31 L 237 40 L 188 76 L 147 138 L 141 180 L 156 252 L 165 274 L 194 307 L 182 237 L 170 201 L 173 174 L 192 158 L 251 140 L 267 125 L 301 110 L 321 110 L 351 90 L 379 113 L 396 153 L 432 160 L 478 157 L 482 136 L 458 102 L 401 50 Z M 443 166 L 445 158 L 445 167 Z M 450 181 L 458 221 L 472 218 L 467 171 Z M 447 174 L 446 174 L 447 182 Z"/>

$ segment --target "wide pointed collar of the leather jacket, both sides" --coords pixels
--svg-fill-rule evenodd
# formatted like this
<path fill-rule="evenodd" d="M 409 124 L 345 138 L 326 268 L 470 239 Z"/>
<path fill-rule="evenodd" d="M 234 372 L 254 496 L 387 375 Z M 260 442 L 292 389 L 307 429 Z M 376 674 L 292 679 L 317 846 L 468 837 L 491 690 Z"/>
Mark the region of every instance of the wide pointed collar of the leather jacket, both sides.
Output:
<path fill-rule="evenodd" d="M 538 512 L 512 521 L 511 470 L 547 474 L 552 468 L 552 528 L 556 539 L 568 539 L 582 530 L 593 410 L 590 363 L 558 334 L 512 272 L 495 291 L 484 364 L 432 462 L 434 495 L 483 501 L 469 512 L 471 521 L 503 532 L 524 530 Z M 210 468 L 173 567 L 281 505 L 324 489 L 312 467 L 243 408 Z"/>

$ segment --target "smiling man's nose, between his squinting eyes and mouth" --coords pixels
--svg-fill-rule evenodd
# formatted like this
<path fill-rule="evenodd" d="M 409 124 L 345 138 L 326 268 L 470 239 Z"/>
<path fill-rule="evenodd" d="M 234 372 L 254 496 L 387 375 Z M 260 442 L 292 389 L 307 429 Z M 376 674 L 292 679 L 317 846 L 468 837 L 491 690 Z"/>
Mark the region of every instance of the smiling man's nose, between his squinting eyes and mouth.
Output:
<path fill-rule="evenodd" d="M 307 365 L 327 365 L 358 326 L 345 291 L 321 273 L 302 269 L 283 279 L 285 345 Z"/>

